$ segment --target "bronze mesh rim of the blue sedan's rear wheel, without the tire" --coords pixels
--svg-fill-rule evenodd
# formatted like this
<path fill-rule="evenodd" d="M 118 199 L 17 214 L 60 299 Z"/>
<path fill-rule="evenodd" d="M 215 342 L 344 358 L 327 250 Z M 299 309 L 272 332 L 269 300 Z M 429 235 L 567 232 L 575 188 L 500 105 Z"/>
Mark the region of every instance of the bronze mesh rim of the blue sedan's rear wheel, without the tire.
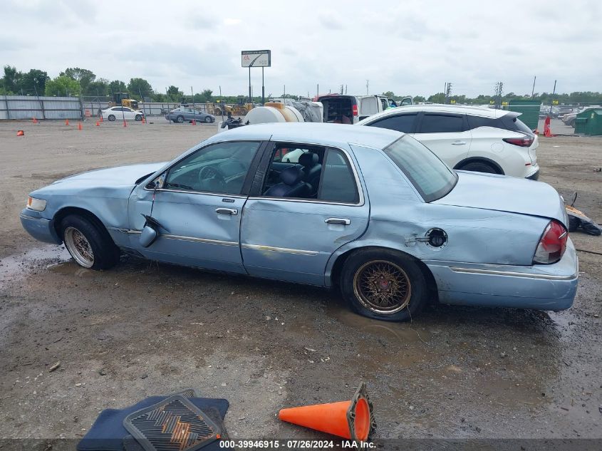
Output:
<path fill-rule="evenodd" d="M 373 260 L 356 271 L 353 291 L 366 309 L 390 315 L 410 304 L 412 284 L 400 266 L 390 261 Z"/>

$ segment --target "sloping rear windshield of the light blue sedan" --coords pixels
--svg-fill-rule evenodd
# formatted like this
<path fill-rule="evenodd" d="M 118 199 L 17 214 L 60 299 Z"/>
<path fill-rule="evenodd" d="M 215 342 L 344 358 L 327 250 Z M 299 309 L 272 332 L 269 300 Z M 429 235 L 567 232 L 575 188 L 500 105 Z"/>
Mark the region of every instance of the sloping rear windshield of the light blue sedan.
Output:
<path fill-rule="evenodd" d="M 444 197 L 456 185 L 457 174 L 427 147 L 408 135 L 393 142 L 384 151 L 410 179 L 425 202 Z"/>

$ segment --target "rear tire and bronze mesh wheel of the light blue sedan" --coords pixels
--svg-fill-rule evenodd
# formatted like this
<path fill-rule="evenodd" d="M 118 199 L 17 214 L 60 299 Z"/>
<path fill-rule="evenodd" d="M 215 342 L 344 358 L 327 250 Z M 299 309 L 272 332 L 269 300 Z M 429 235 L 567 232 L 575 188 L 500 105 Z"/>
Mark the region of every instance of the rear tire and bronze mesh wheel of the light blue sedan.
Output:
<path fill-rule="evenodd" d="M 399 252 L 364 249 L 352 254 L 341 271 L 340 285 L 353 311 L 383 321 L 411 320 L 427 301 L 420 267 Z"/>

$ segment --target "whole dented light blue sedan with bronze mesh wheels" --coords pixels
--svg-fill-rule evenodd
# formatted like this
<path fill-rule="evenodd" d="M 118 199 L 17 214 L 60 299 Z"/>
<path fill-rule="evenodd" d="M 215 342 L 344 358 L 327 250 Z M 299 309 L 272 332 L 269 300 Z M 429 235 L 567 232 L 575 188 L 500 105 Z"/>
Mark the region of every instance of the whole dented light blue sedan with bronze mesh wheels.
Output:
<path fill-rule="evenodd" d="M 568 309 L 578 281 L 554 188 L 452 171 L 382 128 L 229 130 L 171 162 L 58 180 L 31 193 L 21 222 L 36 239 L 64 242 L 85 268 L 127 253 L 338 286 L 354 311 L 389 321 L 430 299 Z"/>

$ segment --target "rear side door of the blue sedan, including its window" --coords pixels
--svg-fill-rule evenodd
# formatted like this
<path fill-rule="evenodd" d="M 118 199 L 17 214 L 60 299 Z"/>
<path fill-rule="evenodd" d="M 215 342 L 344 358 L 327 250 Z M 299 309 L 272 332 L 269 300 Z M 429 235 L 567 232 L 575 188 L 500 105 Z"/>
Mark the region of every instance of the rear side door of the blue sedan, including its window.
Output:
<path fill-rule="evenodd" d="M 280 162 L 298 152 L 299 163 Z M 277 142 L 266 149 L 244 206 L 241 252 L 253 276 L 324 285 L 326 263 L 368 227 L 351 152 L 319 145 Z"/>

